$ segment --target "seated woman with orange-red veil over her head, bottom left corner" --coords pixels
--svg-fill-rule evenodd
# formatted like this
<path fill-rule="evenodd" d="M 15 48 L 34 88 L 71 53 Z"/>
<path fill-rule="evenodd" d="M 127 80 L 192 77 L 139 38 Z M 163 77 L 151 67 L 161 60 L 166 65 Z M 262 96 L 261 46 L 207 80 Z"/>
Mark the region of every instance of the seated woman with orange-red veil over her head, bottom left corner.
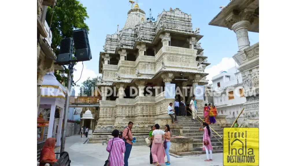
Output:
<path fill-rule="evenodd" d="M 57 159 L 55 159 L 54 147 L 55 138 L 46 139 L 40 154 L 40 166 L 44 166 L 46 163 L 53 165 L 57 162 Z"/>

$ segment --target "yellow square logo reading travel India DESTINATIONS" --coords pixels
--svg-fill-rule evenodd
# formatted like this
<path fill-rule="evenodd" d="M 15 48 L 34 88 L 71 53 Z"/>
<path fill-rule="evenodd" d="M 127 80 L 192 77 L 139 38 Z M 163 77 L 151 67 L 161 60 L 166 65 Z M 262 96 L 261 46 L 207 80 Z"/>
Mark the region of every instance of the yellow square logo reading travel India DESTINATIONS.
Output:
<path fill-rule="evenodd" d="M 259 128 L 223 128 L 223 165 L 259 165 Z"/>

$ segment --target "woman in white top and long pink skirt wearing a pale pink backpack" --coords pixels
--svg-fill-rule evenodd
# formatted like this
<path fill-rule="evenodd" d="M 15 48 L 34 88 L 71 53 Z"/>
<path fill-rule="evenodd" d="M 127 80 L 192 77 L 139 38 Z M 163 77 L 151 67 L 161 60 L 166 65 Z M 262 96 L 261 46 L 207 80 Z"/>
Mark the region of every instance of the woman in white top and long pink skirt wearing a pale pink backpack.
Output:
<path fill-rule="evenodd" d="M 156 163 L 156 166 L 159 166 L 160 164 L 165 163 L 165 149 L 163 147 L 162 143 L 155 143 L 154 138 L 156 135 L 168 136 L 164 131 L 159 129 L 159 124 L 155 124 L 155 130 L 152 132 L 152 148 L 151 148 L 151 154 L 153 162 Z"/>

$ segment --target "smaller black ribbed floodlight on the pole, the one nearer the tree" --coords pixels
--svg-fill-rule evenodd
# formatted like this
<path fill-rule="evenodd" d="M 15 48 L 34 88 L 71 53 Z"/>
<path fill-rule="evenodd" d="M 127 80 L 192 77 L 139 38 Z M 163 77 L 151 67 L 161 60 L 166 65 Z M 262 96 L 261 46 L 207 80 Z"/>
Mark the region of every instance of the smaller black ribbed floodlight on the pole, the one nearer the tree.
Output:
<path fill-rule="evenodd" d="M 72 60 L 73 56 L 73 38 L 62 39 L 59 45 L 58 62 L 68 62 Z"/>

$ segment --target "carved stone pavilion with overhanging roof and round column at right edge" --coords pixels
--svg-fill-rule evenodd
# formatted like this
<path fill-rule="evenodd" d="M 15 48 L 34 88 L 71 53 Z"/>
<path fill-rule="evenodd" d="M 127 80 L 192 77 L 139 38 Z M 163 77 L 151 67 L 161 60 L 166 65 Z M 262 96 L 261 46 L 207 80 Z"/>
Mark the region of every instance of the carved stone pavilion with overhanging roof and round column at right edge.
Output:
<path fill-rule="evenodd" d="M 250 46 L 248 31 L 259 33 L 259 0 L 232 0 L 220 6 L 221 12 L 209 25 L 227 27 L 237 35 L 238 53 L 232 58 L 239 65 L 245 90 L 242 127 L 259 127 L 259 42 Z"/>

